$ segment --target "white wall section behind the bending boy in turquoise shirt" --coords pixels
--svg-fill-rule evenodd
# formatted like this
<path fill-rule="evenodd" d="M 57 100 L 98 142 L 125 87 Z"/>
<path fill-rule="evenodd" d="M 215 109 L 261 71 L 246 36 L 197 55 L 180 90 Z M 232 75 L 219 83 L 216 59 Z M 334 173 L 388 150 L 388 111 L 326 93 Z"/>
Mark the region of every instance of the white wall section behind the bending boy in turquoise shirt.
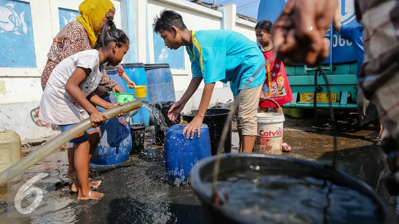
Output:
<path fill-rule="evenodd" d="M 148 23 L 148 36 L 150 43 L 150 62 L 154 63 L 156 55 L 154 55 L 154 45 L 153 45 L 153 35 L 152 23 L 154 17 L 159 15 L 159 13 L 164 9 L 172 9 L 180 13 L 183 17 L 183 20 L 190 30 L 210 30 L 210 29 L 221 29 L 222 24 L 222 12 L 210 9 L 208 7 L 189 2 L 187 0 L 148 0 L 148 12 L 147 19 Z M 246 21 L 244 19 L 236 18 L 236 5 L 230 4 L 221 7 L 221 9 L 225 9 L 226 13 L 226 29 L 234 30 L 244 34 L 249 39 L 256 41 L 255 37 L 255 25 L 256 23 Z M 169 49 L 168 49 L 169 51 Z M 183 93 L 186 91 L 187 86 L 189 85 L 192 72 L 191 72 L 191 62 L 190 58 L 185 51 L 185 69 L 184 70 L 174 70 L 172 69 L 172 74 L 175 82 L 175 91 L 176 91 L 176 100 L 179 100 Z M 203 89 L 203 82 L 201 83 L 199 90 L 193 96 L 192 101 L 190 101 L 185 111 L 189 111 L 192 108 L 198 107 L 200 104 L 201 93 Z M 232 94 L 229 88 L 223 88 L 223 84 L 221 82 L 217 82 L 215 85 L 216 89 L 223 89 L 221 91 L 214 91 L 211 99 L 211 103 L 223 102 L 224 99 L 232 99 Z M 226 101 L 227 101 L 226 100 Z"/>

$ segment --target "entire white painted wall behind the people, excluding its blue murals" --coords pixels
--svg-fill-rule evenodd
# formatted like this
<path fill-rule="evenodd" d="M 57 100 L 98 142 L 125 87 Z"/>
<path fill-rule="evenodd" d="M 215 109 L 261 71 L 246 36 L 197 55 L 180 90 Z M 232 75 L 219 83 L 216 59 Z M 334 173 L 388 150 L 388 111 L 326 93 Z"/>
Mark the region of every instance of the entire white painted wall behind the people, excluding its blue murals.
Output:
<path fill-rule="evenodd" d="M 4 129 L 13 129 L 22 140 L 35 139 L 54 135 L 58 132 L 51 128 L 38 126 L 32 121 L 31 112 L 40 104 L 42 94 L 40 76 L 47 61 L 47 53 L 52 40 L 59 32 L 58 7 L 78 10 L 82 0 L 22 0 L 30 3 L 32 15 L 32 29 L 34 39 L 34 50 L 36 58 L 36 68 L 5 68 L 0 67 L 0 131 Z M 136 0 L 134 0 L 136 1 Z M 148 44 L 150 63 L 155 63 L 153 27 L 154 17 L 161 10 L 168 8 L 182 14 L 183 19 L 189 29 L 220 29 L 222 13 L 205 6 L 190 2 L 188 0 L 147 0 L 147 14 L 144 8 L 145 0 L 136 4 L 137 26 L 136 31 L 136 53 L 140 61 L 146 63 L 147 50 L 144 46 Z M 121 8 L 120 0 L 112 0 L 115 5 L 116 14 L 114 21 L 118 28 L 121 27 Z M 243 33 L 245 36 L 255 41 L 254 26 L 255 23 L 236 18 L 235 4 L 223 7 L 229 15 L 227 29 Z M 147 26 L 143 26 L 148 20 Z M 225 27 L 226 28 L 226 27 Z M 147 40 L 141 33 L 147 32 Z M 1 41 L 1 38 L 0 38 Z M 140 46 L 138 46 L 140 45 Z M 17 46 L 23 48 L 23 45 Z M 175 82 L 177 100 L 186 91 L 192 78 L 191 63 L 187 52 L 184 52 L 185 69 L 172 69 Z M 187 110 L 198 107 L 202 94 L 203 84 L 195 93 L 192 100 L 187 104 Z M 229 88 L 223 88 L 222 83 L 216 84 L 216 89 L 212 95 L 211 103 L 226 102 L 232 99 Z"/>

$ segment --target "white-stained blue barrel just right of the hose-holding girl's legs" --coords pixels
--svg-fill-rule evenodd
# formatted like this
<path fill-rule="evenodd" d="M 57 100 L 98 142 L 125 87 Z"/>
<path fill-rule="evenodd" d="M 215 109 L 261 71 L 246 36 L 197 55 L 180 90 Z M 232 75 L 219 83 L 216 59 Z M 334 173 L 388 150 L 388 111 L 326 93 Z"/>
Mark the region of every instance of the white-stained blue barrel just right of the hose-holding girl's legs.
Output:
<path fill-rule="evenodd" d="M 114 96 L 104 97 L 103 100 L 116 103 Z M 99 112 L 104 108 L 97 107 Z M 108 166 L 125 162 L 129 159 L 132 149 L 130 124 L 125 117 L 112 118 L 104 122 L 101 128 L 101 137 L 93 156 L 91 166 Z"/>

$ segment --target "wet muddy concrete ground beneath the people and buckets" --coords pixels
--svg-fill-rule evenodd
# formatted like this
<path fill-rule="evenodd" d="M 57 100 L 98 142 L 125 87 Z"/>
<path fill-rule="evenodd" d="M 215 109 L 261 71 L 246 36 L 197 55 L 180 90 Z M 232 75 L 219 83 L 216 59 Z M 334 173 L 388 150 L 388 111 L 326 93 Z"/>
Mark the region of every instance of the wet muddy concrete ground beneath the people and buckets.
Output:
<path fill-rule="evenodd" d="M 337 129 L 338 153 L 337 168 L 367 183 L 383 198 L 390 197 L 384 188 L 387 172 L 382 150 L 374 140 L 364 136 L 372 132 L 372 127 L 353 124 L 356 114 L 339 116 Z M 320 115 L 318 122 L 312 118 L 287 118 L 284 141 L 292 146 L 290 153 L 301 159 L 331 163 L 333 156 L 332 130 L 328 116 Z M 237 151 L 237 136 L 233 132 L 233 152 Z M 162 148 L 152 145 L 155 136 L 146 136 L 147 155 L 132 156 L 123 164 L 109 168 L 92 168 L 93 180 L 102 180 L 98 191 L 105 193 L 100 201 L 77 201 L 77 195 L 70 192 L 70 181 L 65 173 L 66 152 L 57 151 L 23 175 L 23 182 L 8 189 L 0 198 L 0 223 L 202 223 L 200 202 L 190 188 L 171 187 L 167 184 Z M 13 198 L 22 183 L 39 173 L 49 177 L 34 186 L 44 190 L 39 206 L 28 215 L 15 211 Z M 23 208 L 36 198 L 27 196 L 21 203 Z M 391 199 L 392 200 L 392 199 Z"/>

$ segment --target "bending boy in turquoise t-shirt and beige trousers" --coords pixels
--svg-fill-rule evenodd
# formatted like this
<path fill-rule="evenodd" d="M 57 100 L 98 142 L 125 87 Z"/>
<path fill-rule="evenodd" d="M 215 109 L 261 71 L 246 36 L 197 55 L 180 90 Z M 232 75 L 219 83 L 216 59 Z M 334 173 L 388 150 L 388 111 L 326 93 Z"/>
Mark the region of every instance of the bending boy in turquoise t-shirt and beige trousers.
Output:
<path fill-rule="evenodd" d="M 171 107 L 168 117 L 174 120 L 182 112 L 203 79 L 205 86 L 198 113 L 183 130 L 183 134 L 191 135 L 191 138 L 197 130 L 199 137 L 215 82 L 230 82 L 234 103 L 239 105 L 240 152 L 251 153 L 257 135 L 258 98 L 266 72 L 264 57 L 256 43 L 229 30 L 191 31 L 182 16 L 172 10 L 164 10 L 154 19 L 154 31 L 161 35 L 165 46 L 170 49 L 186 46 L 193 72 L 189 87 L 182 99 Z"/>

